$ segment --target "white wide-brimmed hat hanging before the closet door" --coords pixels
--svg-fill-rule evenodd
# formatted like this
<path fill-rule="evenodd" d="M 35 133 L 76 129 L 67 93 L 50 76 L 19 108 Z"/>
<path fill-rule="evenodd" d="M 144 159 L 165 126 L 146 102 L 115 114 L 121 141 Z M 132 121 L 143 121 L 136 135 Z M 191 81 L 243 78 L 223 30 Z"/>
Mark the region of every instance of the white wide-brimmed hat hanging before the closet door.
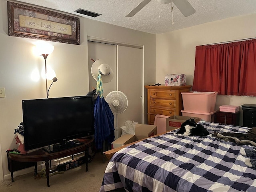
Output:
<path fill-rule="evenodd" d="M 98 70 L 100 70 L 101 79 L 103 83 L 110 82 L 114 77 L 114 73 L 112 69 L 102 59 L 98 59 L 92 64 L 91 72 L 92 72 L 93 78 L 96 81 L 98 80 Z"/>

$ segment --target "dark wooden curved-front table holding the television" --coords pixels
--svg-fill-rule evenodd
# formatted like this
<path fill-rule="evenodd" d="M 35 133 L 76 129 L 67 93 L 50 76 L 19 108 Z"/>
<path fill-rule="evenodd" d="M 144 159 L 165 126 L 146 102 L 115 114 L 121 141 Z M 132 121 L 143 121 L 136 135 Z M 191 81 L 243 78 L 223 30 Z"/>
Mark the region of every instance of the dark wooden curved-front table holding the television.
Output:
<path fill-rule="evenodd" d="M 52 152 L 48 153 L 44 151 L 42 148 L 38 149 L 33 152 L 29 152 L 27 154 L 13 154 L 7 152 L 8 156 L 8 163 L 10 164 L 10 172 L 11 172 L 11 177 L 12 181 L 14 181 L 13 178 L 13 166 L 12 162 L 13 161 L 18 161 L 18 162 L 38 162 L 38 161 L 44 161 L 45 162 L 45 169 L 46 169 L 46 180 L 47 180 L 47 186 L 50 187 L 49 184 L 49 160 L 52 159 L 58 159 L 66 156 L 70 156 L 73 154 L 77 154 L 80 152 L 85 152 L 85 163 L 86 163 L 86 171 L 88 171 L 88 154 L 89 154 L 89 147 L 92 146 L 94 142 L 94 138 L 88 138 L 82 141 L 84 144 L 64 149 L 58 152 Z"/>

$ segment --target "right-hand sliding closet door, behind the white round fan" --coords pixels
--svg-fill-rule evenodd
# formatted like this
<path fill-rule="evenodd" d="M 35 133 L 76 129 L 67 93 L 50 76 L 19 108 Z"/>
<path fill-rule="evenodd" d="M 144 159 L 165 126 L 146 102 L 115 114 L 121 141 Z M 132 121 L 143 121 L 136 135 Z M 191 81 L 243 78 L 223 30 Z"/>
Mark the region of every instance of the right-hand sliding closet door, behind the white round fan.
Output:
<path fill-rule="evenodd" d="M 142 54 L 142 49 L 118 46 L 118 90 L 128 98 L 128 108 L 119 114 L 120 125 L 126 120 L 142 124 Z"/>

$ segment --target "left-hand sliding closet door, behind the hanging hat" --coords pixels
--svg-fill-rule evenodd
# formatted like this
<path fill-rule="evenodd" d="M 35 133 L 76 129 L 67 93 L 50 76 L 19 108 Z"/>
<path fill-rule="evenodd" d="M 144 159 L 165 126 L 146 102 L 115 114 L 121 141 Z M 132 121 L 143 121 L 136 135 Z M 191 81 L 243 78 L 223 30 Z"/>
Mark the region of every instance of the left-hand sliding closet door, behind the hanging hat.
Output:
<path fill-rule="evenodd" d="M 92 60 L 103 59 L 106 64 L 114 72 L 114 77 L 109 83 L 103 83 L 103 96 L 106 98 L 107 94 L 111 91 L 116 90 L 116 45 L 90 42 L 88 41 L 88 67 L 89 67 L 89 88 L 90 91 L 93 90 L 92 87 L 97 88 L 97 81 L 94 80 L 91 74 L 91 67 L 94 63 Z"/>

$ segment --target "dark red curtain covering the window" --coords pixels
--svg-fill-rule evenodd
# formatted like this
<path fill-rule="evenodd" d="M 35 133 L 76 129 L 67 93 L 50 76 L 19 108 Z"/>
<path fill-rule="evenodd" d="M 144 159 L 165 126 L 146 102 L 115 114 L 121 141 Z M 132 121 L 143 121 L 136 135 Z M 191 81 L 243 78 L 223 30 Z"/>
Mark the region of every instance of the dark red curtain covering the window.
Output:
<path fill-rule="evenodd" d="M 196 46 L 193 91 L 256 96 L 256 40 Z"/>

